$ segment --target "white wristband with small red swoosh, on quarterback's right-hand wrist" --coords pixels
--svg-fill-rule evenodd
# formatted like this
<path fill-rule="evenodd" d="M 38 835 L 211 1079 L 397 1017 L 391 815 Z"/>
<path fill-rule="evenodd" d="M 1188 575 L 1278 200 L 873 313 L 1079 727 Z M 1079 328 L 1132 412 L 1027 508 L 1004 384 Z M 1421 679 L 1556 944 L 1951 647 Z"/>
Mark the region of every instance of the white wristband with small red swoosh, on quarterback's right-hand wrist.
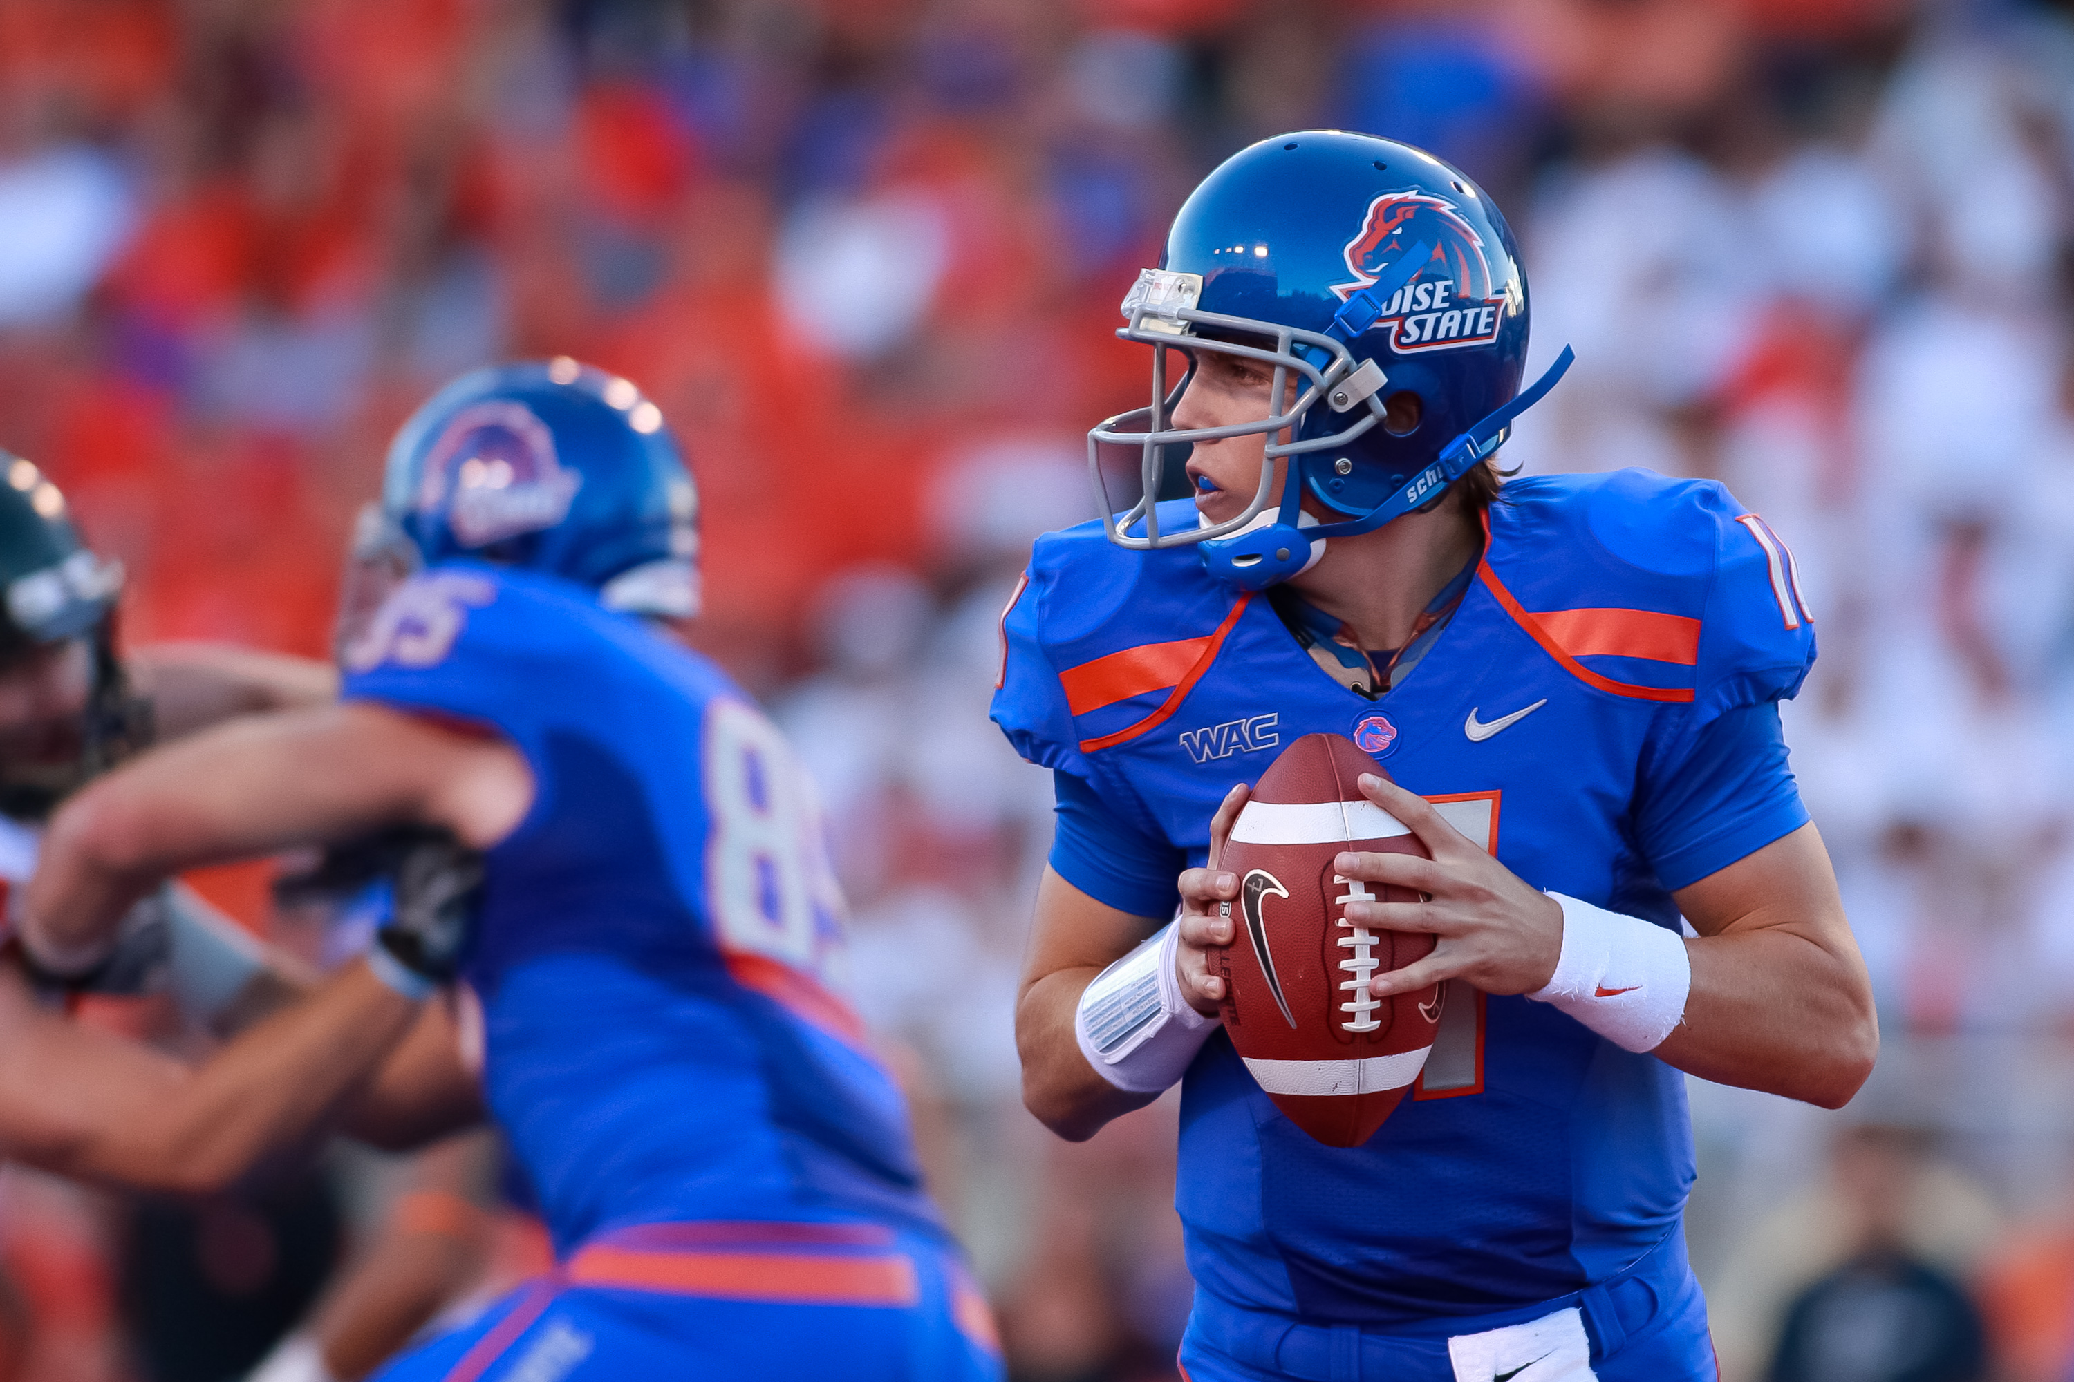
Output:
<path fill-rule="evenodd" d="M 1661 1046 L 1684 1021 L 1692 990 L 1684 937 L 1576 897 L 1549 897 L 1562 903 L 1562 955 L 1555 976 L 1526 997 L 1555 1005 L 1624 1050 Z"/>

